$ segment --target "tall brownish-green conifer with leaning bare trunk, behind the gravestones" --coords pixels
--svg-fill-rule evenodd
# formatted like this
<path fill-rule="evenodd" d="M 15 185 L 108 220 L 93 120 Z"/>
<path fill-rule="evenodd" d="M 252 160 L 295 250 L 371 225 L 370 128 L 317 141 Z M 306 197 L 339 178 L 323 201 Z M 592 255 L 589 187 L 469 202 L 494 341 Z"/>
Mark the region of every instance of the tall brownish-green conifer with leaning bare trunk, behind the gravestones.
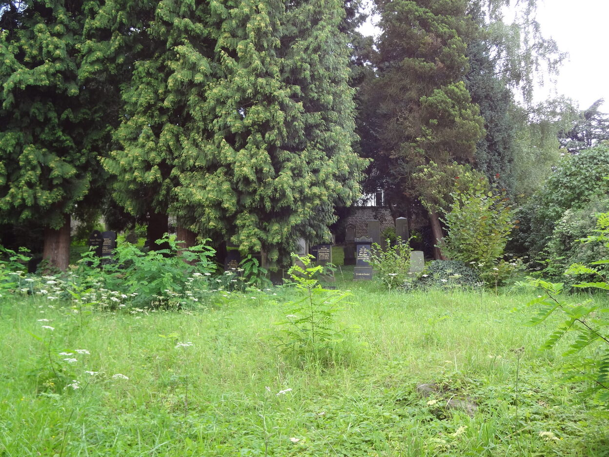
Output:
<path fill-rule="evenodd" d="M 427 204 L 434 238 L 442 238 L 437 189 L 415 179 L 434 162 L 442 170 L 453 161 L 474 163 L 482 133 L 478 107 L 463 83 L 468 70 L 465 37 L 474 24 L 465 1 L 378 0 L 382 35 L 378 42 L 378 78 L 369 97 L 376 103 L 378 152 L 405 197 Z M 389 159 L 389 160 L 387 160 Z M 439 257 L 440 253 L 436 255 Z"/>

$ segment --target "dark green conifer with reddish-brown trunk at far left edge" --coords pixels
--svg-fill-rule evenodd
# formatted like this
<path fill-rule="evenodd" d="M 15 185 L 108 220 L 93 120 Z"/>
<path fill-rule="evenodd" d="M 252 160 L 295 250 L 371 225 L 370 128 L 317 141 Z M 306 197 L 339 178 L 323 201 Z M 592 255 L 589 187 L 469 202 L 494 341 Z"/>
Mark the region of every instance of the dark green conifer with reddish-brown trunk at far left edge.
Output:
<path fill-rule="evenodd" d="M 96 156 L 108 133 L 99 87 L 79 78 L 88 7 L 0 4 L 0 222 L 41 224 L 43 257 L 60 269 L 70 214 L 99 183 Z"/>

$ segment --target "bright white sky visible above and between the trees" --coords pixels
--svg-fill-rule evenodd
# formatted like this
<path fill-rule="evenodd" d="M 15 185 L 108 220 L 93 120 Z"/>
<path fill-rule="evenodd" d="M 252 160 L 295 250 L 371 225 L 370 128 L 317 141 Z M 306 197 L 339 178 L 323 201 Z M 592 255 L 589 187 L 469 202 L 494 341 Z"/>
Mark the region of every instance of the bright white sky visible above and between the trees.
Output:
<path fill-rule="evenodd" d="M 556 86 L 545 78 L 546 85 L 538 88 L 535 101 L 558 94 L 584 109 L 604 98 L 600 110 L 609 112 L 609 0 L 542 0 L 537 5 L 537 20 L 543 36 L 554 38 L 558 49 L 569 56 Z M 360 30 L 366 35 L 378 34 L 370 20 Z"/>

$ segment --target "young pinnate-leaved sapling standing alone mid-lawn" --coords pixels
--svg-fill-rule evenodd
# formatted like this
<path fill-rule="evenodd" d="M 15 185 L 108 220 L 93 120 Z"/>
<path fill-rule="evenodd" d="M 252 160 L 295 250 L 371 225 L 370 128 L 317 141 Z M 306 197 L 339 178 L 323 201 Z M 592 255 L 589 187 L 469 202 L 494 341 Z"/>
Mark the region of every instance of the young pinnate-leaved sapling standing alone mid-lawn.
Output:
<path fill-rule="evenodd" d="M 342 310 L 347 292 L 323 289 L 315 275 L 323 273 L 323 266 L 312 264 L 312 255 L 295 256 L 297 263 L 288 270 L 289 276 L 301 291 L 301 297 L 289 302 L 282 325 L 280 347 L 284 353 L 300 363 L 314 361 L 325 365 L 336 361 L 337 344 L 347 333 L 358 327 L 336 327 L 336 314 Z"/>

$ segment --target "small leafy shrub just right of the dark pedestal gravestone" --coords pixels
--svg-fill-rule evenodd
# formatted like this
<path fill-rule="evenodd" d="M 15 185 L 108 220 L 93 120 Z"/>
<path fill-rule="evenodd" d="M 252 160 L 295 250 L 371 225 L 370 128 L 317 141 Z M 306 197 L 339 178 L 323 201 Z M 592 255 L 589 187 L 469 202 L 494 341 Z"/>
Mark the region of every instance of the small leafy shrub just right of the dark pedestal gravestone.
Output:
<path fill-rule="evenodd" d="M 395 245 L 387 239 L 387 249 L 383 250 L 374 243 L 370 250 L 370 265 L 378 271 L 376 275 L 389 289 L 402 286 L 409 280 L 410 271 L 410 239 L 402 241 L 398 236 Z"/>

